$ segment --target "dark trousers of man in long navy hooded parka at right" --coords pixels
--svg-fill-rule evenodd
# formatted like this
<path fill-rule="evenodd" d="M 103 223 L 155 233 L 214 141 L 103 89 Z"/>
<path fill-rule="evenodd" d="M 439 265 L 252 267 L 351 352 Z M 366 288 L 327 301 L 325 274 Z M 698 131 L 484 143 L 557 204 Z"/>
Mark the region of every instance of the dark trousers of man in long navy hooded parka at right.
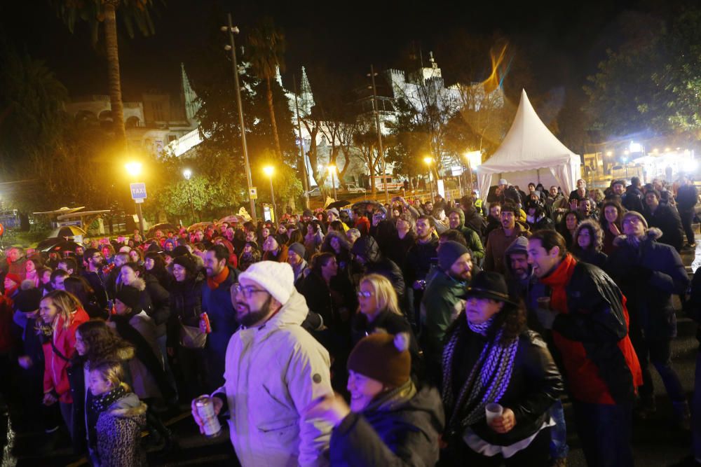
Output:
<path fill-rule="evenodd" d="M 650 363 L 655 365 L 662 382 L 665 384 L 667 394 L 672 402 L 683 402 L 686 400 L 684 390 L 672 366 L 672 339 L 647 339 L 643 337 L 638 326 L 630 326 L 630 338 L 640 362 L 640 369 L 643 372 L 643 385 L 640 386 L 640 398 L 643 401 L 650 401 L 655 397 L 653 387 L 653 377 L 650 372 Z"/>

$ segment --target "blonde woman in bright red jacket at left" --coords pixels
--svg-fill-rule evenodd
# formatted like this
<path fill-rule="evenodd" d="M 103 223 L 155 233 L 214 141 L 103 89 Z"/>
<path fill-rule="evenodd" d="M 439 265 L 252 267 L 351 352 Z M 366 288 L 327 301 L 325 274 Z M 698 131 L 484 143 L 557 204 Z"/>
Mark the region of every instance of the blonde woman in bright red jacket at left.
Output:
<path fill-rule="evenodd" d="M 90 317 L 80 300 L 66 291 L 48 293 L 39 305 L 44 354 L 44 405 L 59 403 L 61 415 L 73 437 L 73 398 L 68 366 L 76 351 L 76 329 Z"/>

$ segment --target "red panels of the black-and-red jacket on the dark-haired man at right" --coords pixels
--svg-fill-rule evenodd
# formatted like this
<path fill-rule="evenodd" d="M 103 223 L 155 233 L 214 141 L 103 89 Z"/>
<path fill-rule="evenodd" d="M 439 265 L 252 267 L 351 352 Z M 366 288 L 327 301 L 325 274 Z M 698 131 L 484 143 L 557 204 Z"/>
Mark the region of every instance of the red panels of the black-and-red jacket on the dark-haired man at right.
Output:
<path fill-rule="evenodd" d="M 562 263 L 560 263 L 547 277 L 543 277 L 542 279 L 543 284 L 552 289 L 552 309 L 557 309 L 564 315 L 570 315 L 572 313 L 572 310 L 568 309 L 568 300 L 572 304 L 577 302 L 585 302 L 585 300 L 575 300 L 568 296 L 569 292 L 567 290 L 567 286 L 570 284 L 576 265 L 577 261 L 570 254 L 567 254 L 562 260 Z M 572 292 L 570 291 L 570 293 Z M 618 365 L 618 363 L 615 363 L 616 361 L 620 361 L 620 365 L 625 365 L 627 368 L 622 367 L 620 370 L 630 372 L 628 381 L 632 381 L 632 389 L 634 390 L 642 385 L 642 372 L 640 370 L 638 357 L 635 354 L 627 332 L 628 310 L 625 306 L 626 300 L 618 290 L 616 290 L 616 293 L 620 295 L 622 314 L 625 319 L 625 329 L 621 329 L 621 334 L 625 333 L 625 335 L 623 335 L 623 337 L 618 340 L 615 345 L 612 345 L 613 349 L 618 347 L 618 350 L 620 351 L 620 360 L 611 355 L 611 358 L 608 359 L 608 365 Z M 578 309 L 575 310 L 575 314 L 571 316 L 573 316 L 573 320 L 576 320 L 577 318 L 575 316 L 584 317 L 587 315 L 593 315 L 595 312 L 597 312 L 597 310 Z M 563 324 L 566 321 L 569 320 L 564 319 L 564 321 L 559 324 Z M 596 342 L 574 340 L 564 337 L 562 333 L 557 331 L 557 328 L 559 328 L 557 324 L 558 319 L 556 319 L 553 323 L 552 337 L 554 344 L 562 354 L 562 363 L 565 369 L 567 384 L 574 398 L 586 403 L 615 404 L 616 402 L 611 395 L 611 389 L 613 388 L 609 387 L 610 382 L 605 381 L 603 375 L 610 375 L 612 372 L 617 372 L 620 374 L 619 370 L 616 368 L 606 368 L 604 369 L 604 372 L 601 372 L 597 366 L 597 363 L 594 362 L 592 356 L 590 355 L 591 350 L 587 350 L 587 347 L 596 344 Z M 602 330 L 601 333 L 602 336 L 604 336 L 601 337 L 603 340 L 610 339 L 610 337 L 608 337 L 608 335 L 610 335 L 608 330 Z M 602 341 L 599 344 L 602 345 L 603 343 L 604 342 Z M 613 342 L 611 342 L 611 344 L 613 344 Z"/>

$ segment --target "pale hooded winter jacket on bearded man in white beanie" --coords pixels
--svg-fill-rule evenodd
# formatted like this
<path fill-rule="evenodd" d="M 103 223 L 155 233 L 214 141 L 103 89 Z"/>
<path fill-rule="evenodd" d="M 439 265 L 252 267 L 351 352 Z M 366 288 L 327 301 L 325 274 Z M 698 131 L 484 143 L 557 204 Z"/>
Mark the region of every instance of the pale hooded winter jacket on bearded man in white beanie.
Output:
<path fill-rule="evenodd" d="M 301 327 L 308 308 L 294 291 L 267 323 L 240 328 L 226 348 L 231 443 L 243 467 L 326 466 L 332 426 L 304 407 L 332 393 L 329 354 Z"/>

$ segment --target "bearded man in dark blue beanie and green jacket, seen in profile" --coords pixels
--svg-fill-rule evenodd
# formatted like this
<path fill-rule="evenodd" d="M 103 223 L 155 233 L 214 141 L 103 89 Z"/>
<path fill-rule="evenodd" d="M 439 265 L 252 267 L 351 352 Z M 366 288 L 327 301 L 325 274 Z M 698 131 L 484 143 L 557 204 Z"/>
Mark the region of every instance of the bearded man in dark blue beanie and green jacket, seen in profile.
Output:
<path fill-rule="evenodd" d="M 438 270 L 426 284 L 421 300 L 421 347 L 426 373 L 431 382 L 440 382 L 443 338 L 461 312 L 460 298 L 472 277 L 472 253 L 458 242 L 445 242 L 438 252 Z"/>

